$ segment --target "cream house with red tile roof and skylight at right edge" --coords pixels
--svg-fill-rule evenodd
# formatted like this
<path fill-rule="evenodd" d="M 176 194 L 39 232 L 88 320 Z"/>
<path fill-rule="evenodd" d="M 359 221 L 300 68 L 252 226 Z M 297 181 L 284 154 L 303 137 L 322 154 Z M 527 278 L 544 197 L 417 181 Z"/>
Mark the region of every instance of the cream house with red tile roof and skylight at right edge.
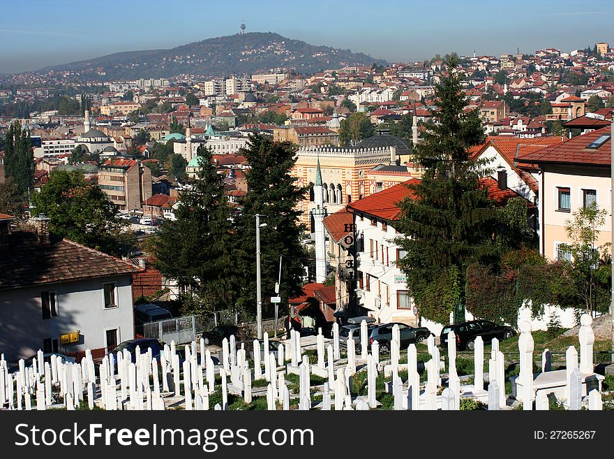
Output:
<path fill-rule="evenodd" d="M 539 181 L 540 252 L 551 260 L 571 258 L 564 244 L 569 244 L 565 225 L 581 207 L 597 203 L 608 217 L 597 246 L 611 240 L 612 212 L 610 128 L 597 129 L 564 143 L 551 145 L 521 158 L 525 170 L 537 173 Z"/>

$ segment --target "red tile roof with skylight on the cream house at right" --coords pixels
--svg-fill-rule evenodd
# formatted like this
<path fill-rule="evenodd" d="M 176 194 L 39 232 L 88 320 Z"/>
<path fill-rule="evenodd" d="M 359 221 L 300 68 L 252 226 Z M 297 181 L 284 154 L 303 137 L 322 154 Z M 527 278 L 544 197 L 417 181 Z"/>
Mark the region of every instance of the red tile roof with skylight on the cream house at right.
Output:
<path fill-rule="evenodd" d="M 609 135 L 610 127 L 608 126 L 585 133 L 582 136 L 576 136 L 562 144 L 551 145 L 530 152 L 525 154 L 521 159 L 526 163 L 583 164 L 606 166 L 609 168 L 611 163 L 611 139 L 606 140 L 606 142 L 598 148 L 587 148 L 588 145 L 600 136 Z"/>

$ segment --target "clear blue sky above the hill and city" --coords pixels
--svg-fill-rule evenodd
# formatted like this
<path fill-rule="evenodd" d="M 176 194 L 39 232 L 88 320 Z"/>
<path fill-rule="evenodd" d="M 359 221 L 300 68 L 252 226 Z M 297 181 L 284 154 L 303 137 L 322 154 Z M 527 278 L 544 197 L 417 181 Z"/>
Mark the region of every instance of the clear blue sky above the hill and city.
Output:
<path fill-rule="evenodd" d="M 276 32 L 388 61 L 614 45 L 612 0 L 0 0 L 0 73 Z"/>

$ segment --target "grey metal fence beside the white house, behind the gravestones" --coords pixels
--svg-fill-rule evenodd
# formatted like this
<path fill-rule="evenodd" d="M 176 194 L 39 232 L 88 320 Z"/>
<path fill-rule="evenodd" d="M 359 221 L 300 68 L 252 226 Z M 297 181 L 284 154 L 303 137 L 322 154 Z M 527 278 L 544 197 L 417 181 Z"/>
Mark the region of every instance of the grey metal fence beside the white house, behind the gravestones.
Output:
<path fill-rule="evenodd" d="M 211 314 L 181 316 L 156 322 L 144 323 L 137 329 L 137 334 L 145 338 L 154 338 L 163 342 L 174 341 L 177 344 L 192 342 L 196 335 L 211 330 L 218 325 L 237 325 L 239 314 L 230 309 Z"/>

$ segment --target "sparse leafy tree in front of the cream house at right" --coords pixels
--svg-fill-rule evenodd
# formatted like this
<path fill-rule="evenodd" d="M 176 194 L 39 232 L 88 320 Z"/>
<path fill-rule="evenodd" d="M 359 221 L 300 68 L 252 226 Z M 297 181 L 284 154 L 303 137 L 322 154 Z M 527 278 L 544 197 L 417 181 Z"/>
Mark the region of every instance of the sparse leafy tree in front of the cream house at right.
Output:
<path fill-rule="evenodd" d="M 599 228 L 606 223 L 608 212 L 597 203 L 580 207 L 565 221 L 565 233 L 571 242 L 566 245 L 571 260 L 569 273 L 576 294 L 587 313 L 607 312 L 610 305 L 611 256 L 609 242 L 597 246 Z"/>

